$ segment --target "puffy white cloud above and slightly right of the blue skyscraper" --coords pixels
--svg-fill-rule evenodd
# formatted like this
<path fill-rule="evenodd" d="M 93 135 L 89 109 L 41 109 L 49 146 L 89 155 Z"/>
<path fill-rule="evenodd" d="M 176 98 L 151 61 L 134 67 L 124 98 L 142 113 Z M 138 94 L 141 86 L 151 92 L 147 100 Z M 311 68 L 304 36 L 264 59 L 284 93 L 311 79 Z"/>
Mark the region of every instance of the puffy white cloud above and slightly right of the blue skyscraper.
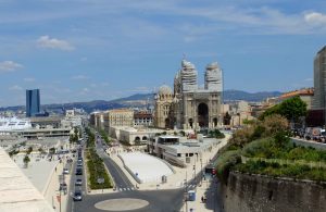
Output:
<path fill-rule="evenodd" d="M 73 51 L 75 49 L 75 47 L 67 41 L 57 38 L 50 38 L 47 35 L 39 37 L 37 39 L 37 45 L 41 48 L 60 49 L 63 51 Z"/>

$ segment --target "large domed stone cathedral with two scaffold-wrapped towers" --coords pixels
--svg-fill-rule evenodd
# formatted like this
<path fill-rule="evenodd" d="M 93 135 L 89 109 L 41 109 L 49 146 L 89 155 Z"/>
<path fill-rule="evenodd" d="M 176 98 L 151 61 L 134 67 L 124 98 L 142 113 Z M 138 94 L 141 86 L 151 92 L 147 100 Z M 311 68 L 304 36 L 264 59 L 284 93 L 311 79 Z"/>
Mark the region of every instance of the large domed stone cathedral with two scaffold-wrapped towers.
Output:
<path fill-rule="evenodd" d="M 217 62 L 210 63 L 200 88 L 195 65 L 181 61 L 174 89 L 163 85 L 155 95 L 154 124 L 160 128 L 200 129 L 221 126 L 223 76 Z"/>

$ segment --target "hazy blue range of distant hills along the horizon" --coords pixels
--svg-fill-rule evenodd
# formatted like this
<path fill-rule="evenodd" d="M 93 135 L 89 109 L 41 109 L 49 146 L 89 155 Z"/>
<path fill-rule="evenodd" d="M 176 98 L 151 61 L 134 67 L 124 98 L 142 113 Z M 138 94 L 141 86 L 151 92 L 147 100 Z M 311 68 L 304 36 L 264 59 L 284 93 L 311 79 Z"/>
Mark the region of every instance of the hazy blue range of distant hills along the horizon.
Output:
<path fill-rule="evenodd" d="M 279 91 L 264 91 L 264 92 L 246 92 L 242 90 L 225 90 L 224 91 L 224 101 L 235 101 L 235 100 L 244 100 L 244 101 L 262 101 L 268 97 L 278 97 L 281 92 Z M 145 107 L 147 103 L 152 104 L 154 99 L 153 93 L 137 93 L 125 98 L 114 99 L 110 101 L 105 100 L 93 100 L 88 102 L 73 102 L 73 103 L 63 103 L 63 104 L 45 104 L 42 110 L 47 111 L 63 111 L 64 109 L 84 109 L 86 112 L 92 112 L 97 110 L 110 110 L 116 108 L 137 108 Z M 0 108 L 0 111 L 12 110 L 25 110 L 24 105 L 17 107 L 7 107 Z"/>

